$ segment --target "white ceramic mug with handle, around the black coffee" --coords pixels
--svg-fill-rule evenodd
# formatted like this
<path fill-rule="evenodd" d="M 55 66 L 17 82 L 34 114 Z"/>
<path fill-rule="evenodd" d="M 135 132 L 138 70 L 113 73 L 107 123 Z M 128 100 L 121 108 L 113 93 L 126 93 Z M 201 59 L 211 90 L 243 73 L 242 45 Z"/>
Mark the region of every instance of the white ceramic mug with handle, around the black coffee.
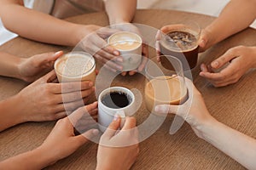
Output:
<path fill-rule="evenodd" d="M 104 105 L 102 103 L 102 99 L 105 97 L 105 95 L 113 93 L 113 92 L 119 92 L 122 94 L 127 94 L 129 101 L 129 105 L 119 108 L 119 109 L 113 109 L 108 107 L 107 105 Z M 102 91 L 102 93 L 99 95 L 98 98 L 98 123 L 99 128 L 102 132 L 105 132 L 105 130 L 108 128 L 109 124 L 113 121 L 113 117 L 118 115 L 121 117 L 121 127 L 124 125 L 125 122 L 125 116 L 132 116 L 136 111 L 135 107 L 135 97 L 134 94 L 131 92 L 131 90 L 123 87 L 112 87 L 107 88 Z"/>

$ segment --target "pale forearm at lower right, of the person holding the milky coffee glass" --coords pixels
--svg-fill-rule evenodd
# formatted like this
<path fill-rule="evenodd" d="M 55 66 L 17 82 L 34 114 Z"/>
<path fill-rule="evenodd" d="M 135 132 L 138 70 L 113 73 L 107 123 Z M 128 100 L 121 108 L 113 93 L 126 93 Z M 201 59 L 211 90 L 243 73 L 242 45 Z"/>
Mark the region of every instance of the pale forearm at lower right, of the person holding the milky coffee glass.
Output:
<path fill-rule="evenodd" d="M 213 120 L 201 129 L 203 138 L 248 169 L 256 168 L 256 140 Z"/>

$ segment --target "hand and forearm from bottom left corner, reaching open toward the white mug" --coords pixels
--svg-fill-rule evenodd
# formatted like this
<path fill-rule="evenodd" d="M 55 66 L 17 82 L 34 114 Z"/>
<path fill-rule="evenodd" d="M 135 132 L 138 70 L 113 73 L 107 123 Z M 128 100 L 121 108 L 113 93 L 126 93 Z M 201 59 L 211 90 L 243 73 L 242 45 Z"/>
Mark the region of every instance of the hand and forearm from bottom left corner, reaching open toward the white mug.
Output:
<path fill-rule="evenodd" d="M 70 116 L 59 120 L 44 143 L 37 149 L 4 160 L 0 162 L 0 167 L 3 169 L 42 169 L 73 154 L 81 145 L 98 134 L 97 129 L 90 129 L 75 136 L 73 124 L 84 115 L 96 116 L 96 113 L 96 102 L 79 108 Z"/>

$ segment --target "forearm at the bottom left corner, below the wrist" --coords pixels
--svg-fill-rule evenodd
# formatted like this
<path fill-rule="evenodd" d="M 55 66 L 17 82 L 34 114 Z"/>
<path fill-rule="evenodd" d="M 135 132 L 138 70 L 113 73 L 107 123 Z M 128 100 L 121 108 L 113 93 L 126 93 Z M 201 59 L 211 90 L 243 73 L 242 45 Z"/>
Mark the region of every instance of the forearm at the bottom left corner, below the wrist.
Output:
<path fill-rule="evenodd" d="M 11 157 L 0 162 L 3 169 L 43 169 L 55 162 L 55 159 L 47 155 L 49 150 L 39 147 L 18 156 Z"/>

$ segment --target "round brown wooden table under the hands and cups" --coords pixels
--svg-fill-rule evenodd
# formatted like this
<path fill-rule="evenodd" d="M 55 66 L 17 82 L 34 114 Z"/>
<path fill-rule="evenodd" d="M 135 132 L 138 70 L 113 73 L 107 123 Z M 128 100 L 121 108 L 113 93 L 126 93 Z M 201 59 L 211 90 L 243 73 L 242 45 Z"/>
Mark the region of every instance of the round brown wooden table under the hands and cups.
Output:
<path fill-rule="evenodd" d="M 159 29 L 161 26 L 183 20 L 196 20 L 202 27 L 205 27 L 213 19 L 202 14 L 149 9 L 137 10 L 133 21 Z M 84 14 L 67 20 L 81 24 L 108 25 L 108 17 L 105 13 Z M 199 63 L 202 61 L 209 63 L 212 59 L 224 54 L 227 49 L 237 45 L 256 45 L 255 39 L 255 30 L 250 28 L 241 31 L 200 54 Z M 70 50 L 70 48 L 61 46 L 32 42 L 22 37 L 17 37 L 0 47 L 1 51 L 20 57 L 60 49 Z M 196 67 L 194 82 L 203 94 L 212 116 L 220 122 L 256 138 L 256 93 L 254 91 L 256 71 L 248 72 L 246 77 L 241 78 L 241 81 L 225 88 L 213 88 L 205 79 L 196 76 L 199 71 L 199 67 Z M 142 90 L 143 81 L 144 77 L 137 74 L 134 77 L 118 77 L 114 83 Z M 14 78 L 0 77 L 0 99 L 7 99 L 17 94 L 25 86 L 25 82 Z M 139 113 L 138 123 L 141 123 L 142 117 L 148 116 L 144 104 Z M 229 156 L 225 156 L 211 144 L 197 138 L 187 123 L 183 124 L 177 133 L 170 135 L 168 131 L 172 119 L 173 116 L 168 116 L 157 132 L 140 144 L 140 155 L 132 169 L 244 169 L 239 163 Z M 0 159 L 3 160 L 32 150 L 42 144 L 54 125 L 55 122 L 27 122 L 3 131 L 0 133 Z M 97 144 L 85 144 L 72 156 L 68 156 L 46 169 L 94 169 L 96 167 L 96 150 Z"/>

